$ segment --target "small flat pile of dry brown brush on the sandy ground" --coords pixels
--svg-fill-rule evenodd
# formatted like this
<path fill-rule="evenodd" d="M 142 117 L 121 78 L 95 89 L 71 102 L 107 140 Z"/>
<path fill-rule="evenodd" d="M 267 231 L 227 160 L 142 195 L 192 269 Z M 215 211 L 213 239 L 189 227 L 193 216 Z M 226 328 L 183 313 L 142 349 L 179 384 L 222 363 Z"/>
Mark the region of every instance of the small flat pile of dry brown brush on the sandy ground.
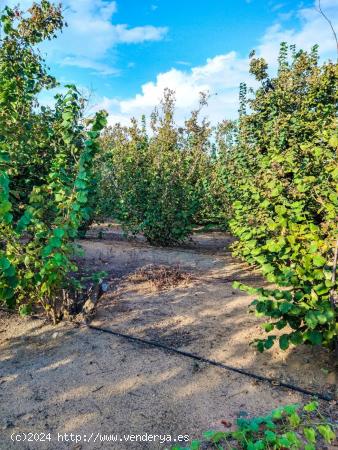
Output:
<path fill-rule="evenodd" d="M 192 275 L 179 268 L 165 265 L 148 264 L 128 277 L 134 283 L 149 282 L 158 291 L 170 289 L 175 286 L 187 284 Z"/>

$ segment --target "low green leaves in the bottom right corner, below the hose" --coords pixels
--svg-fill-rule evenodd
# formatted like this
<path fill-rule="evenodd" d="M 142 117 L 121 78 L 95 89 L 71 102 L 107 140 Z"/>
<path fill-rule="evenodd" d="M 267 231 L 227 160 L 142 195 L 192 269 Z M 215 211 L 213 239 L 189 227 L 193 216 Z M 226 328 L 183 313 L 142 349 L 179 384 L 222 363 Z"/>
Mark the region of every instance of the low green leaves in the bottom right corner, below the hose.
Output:
<path fill-rule="evenodd" d="M 303 408 L 297 404 L 287 405 L 271 411 L 267 416 L 238 418 L 235 431 L 207 431 L 203 442 L 218 450 L 315 450 L 326 448 L 335 438 L 333 425 L 319 412 L 318 403 L 313 401 Z M 202 441 L 196 440 L 188 448 L 174 446 L 172 450 L 201 448 L 205 448 Z"/>

